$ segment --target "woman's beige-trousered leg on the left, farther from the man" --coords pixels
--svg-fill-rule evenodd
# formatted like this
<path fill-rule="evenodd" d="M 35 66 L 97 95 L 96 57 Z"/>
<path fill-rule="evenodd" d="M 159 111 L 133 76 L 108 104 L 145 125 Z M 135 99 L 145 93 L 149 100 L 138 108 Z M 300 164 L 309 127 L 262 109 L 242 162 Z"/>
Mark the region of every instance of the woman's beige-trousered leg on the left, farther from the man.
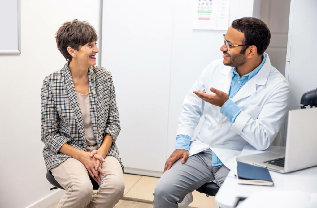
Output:
<path fill-rule="evenodd" d="M 66 190 L 57 208 L 85 208 L 93 195 L 93 185 L 87 169 L 74 158 L 68 158 L 51 169 L 56 181 Z"/>

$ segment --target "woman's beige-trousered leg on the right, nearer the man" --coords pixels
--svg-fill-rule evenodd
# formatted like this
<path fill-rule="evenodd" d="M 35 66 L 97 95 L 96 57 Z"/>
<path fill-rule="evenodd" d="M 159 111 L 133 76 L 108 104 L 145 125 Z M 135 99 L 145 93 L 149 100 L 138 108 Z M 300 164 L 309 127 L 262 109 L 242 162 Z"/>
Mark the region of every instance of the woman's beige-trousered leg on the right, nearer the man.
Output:
<path fill-rule="evenodd" d="M 101 169 L 105 176 L 99 174 L 100 188 L 87 205 L 87 208 L 112 208 L 123 197 L 125 183 L 119 161 L 113 156 L 106 156 Z"/>

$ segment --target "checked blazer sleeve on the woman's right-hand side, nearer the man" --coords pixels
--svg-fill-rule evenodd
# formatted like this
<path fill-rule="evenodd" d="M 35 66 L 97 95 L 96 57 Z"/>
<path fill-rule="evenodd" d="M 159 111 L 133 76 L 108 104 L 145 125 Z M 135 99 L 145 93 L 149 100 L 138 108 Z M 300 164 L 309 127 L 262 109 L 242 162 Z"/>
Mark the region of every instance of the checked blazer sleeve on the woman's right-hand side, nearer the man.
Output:
<path fill-rule="evenodd" d="M 108 111 L 108 120 L 106 129 L 103 136 L 106 136 L 106 133 L 110 134 L 113 139 L 113 144 L 116 143 L 118 134 L 120 133 L 120 119 L 119 112 L 116 102 L 116 94 L 113 86 L 112 76 L 110 79 L 110 95 L 109 95 L 109 111 Z"/>

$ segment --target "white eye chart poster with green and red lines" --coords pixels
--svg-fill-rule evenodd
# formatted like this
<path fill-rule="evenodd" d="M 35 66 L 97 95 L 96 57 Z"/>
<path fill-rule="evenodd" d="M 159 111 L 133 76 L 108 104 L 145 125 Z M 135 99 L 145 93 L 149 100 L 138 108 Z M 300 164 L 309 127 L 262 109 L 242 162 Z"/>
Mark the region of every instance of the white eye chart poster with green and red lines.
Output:
<path fill-rule="evenodd" d="M 230 0 L 194 0 L 193 29 L 227 30 Z"/>

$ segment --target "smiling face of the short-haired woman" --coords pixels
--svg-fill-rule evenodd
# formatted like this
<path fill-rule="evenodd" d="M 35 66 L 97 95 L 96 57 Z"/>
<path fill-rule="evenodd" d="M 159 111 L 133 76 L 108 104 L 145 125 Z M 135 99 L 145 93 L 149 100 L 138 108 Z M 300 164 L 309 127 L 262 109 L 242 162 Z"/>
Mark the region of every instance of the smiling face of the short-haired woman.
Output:
<path fill-rule="evenodd" d="M 99 52 L 97 42 L 88 42 L 85 45 L 79 46 L 78 50 L 75 50 L 75 56 L 71 62 L 77 62 L 77 64 L 88 68 L 96 65 L 96 54 Z"/>

